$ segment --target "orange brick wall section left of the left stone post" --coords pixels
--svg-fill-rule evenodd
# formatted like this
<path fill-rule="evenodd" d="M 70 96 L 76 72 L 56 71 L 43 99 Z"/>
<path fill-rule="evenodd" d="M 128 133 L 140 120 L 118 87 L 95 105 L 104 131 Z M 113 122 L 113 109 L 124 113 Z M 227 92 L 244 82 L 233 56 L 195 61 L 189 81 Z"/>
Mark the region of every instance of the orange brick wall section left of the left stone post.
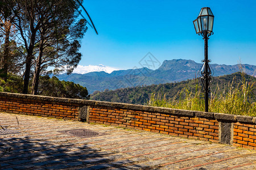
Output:
<path fill-rule="evenodd" d="M 63 101 L 57 102 L 54 98 L 52 98 L 53 100 L 45 99 L 47 98 L 31 95 L 0 95 L 0 111 L 63 118 L 65 120 L 78 120 L 79 110 L 77 104 L 69 104 Z"/>

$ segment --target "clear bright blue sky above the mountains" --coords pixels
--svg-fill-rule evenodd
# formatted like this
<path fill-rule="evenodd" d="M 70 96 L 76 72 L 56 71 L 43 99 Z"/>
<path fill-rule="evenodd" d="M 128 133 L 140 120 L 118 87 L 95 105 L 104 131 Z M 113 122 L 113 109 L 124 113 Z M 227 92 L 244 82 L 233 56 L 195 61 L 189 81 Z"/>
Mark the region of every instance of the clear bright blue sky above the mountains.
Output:
<path fill-rule="evenodd" d="M 88 25 L 80 65 L 132 69 L 152 53 L 161 63 L 204 58 L 204 41 L 193 20 L 202 7 L 214 15 L 208 41 L 212 63 L 256 65 L 256 1 L 85 0 L 98 35 Z M 84 13 L 84 12 L 83 12 Z M 85 16 L 85 14 L 84 14 Z"/>

